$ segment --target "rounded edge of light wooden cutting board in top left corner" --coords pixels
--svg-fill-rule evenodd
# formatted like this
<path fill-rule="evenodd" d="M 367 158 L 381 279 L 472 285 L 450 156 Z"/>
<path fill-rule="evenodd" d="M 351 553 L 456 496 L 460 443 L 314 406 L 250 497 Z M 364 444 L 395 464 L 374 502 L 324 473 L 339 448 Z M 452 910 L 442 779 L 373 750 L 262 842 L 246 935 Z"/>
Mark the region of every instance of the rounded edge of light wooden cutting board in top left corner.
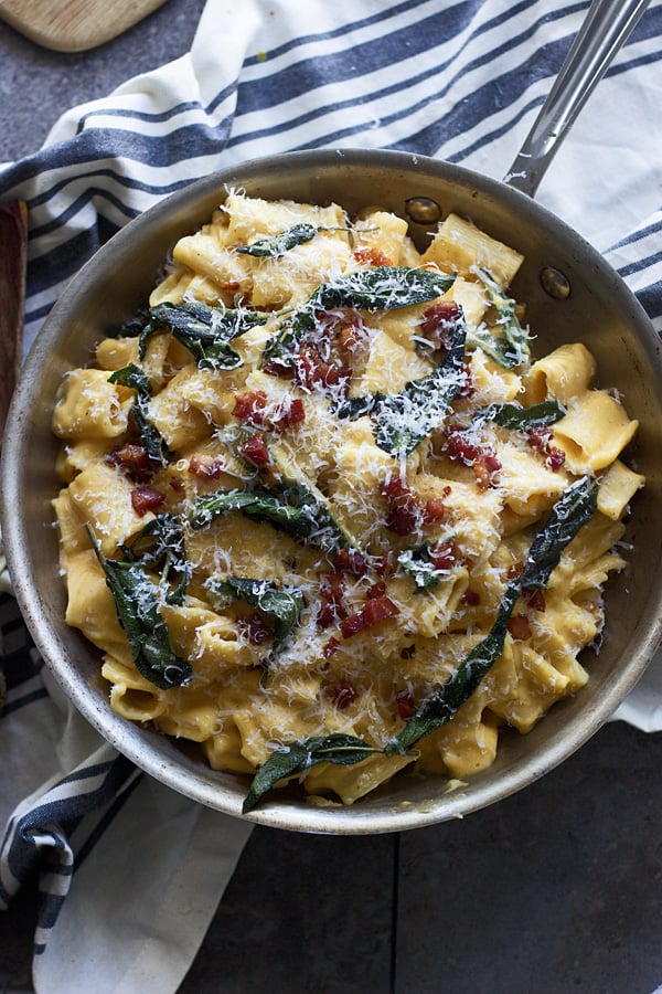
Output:
<path fill-rule="evenodd" d="M 117 38 L 166 0 L 0 0 L 0 18 L 57 52 L 84 52 Z"/>

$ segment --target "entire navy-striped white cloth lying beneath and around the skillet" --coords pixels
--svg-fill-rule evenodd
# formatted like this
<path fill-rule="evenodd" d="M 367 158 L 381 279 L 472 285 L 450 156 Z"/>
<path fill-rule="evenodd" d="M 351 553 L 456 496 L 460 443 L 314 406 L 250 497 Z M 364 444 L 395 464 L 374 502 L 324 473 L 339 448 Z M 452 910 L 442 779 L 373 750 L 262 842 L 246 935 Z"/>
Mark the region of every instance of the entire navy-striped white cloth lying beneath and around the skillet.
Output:
<path fill-rule="evenodd" d="M 29 209 L 26 345 L 103 242 L 214 169 L 292 149 L 361 146 L 503 177 L 587 8 L 588 0 L 209 0 L 190 53 L 65 114 L 41 150 L 0 169 L 0 198 Z M 662 0 L 653 0 L 538 194 L 607 254 L 660 330 L 661 104 Z M 13 771 L 0 783 L 0 822 L 8 823 L 0 902 L 41 875 L 36 988 L 82 990 L 88 976 L 97 994 L 138 983 L 145 992 L 175 991 L 248 829 L 139 775 L 60 699 L 9 596 L 0 622 L 9 684 L 0 750 L 4 771 Z M 658 659 L 620 717 L 661 728 L 661 676 Z M 121 878 L 126 826 L 139 847 L 137 826 L 156 831 L 154 805 L 181 821 L 183 848 L 169 855 L 150 834 L 154 879 L 131 887 L 140 854 Z M 98 875 L 108 867 L 119 882 L 104 898 Z M 168 941 L 182 926 L 168 909 L 172 887 L 196 901 L 178 943 Z M 148 899 L 153 934 L 142 942 Z M 83 914 L 85 962 L 72 953 Z M 130 935 L 117 927 L 127 919 Z"/>

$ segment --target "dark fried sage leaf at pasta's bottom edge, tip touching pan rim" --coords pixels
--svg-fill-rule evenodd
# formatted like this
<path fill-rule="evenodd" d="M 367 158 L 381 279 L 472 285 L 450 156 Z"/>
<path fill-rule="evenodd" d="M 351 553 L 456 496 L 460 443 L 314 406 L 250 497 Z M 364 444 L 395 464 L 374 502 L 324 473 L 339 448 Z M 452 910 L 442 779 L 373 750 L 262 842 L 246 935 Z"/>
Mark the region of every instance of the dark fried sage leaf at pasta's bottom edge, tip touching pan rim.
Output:
<path fill-rule="evenodd" d="M 292 742 L 291 745 L 284 745 L 282 749 L 273 752 L 255 774 L 242 812 L 248 814 L 257 807 L 260 799 L 286 776 L 305 773 L 306 770 L 318 763 L 351 766 L 376 752 L 381 752 L 381 750 L 369 745 L 363 739 L 341 732 L 302 739 L 299 742 Z"/>

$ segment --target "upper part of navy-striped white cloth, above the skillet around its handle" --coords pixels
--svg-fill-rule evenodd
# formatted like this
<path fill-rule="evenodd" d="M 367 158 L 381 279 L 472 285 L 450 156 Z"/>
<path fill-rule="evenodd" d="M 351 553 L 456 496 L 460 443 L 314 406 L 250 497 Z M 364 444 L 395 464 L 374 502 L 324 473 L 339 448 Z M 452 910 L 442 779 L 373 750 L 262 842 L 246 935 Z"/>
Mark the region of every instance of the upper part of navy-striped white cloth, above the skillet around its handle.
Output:
<path fill-rule="evenodd" d="M 267 9 L 211 0 L 189 55 L 65 115 L 41 151 L 0 175 L 0 195 L 30 210 L 26 340 L 113 232 L 218 167 L 364 146 L 501 178 L 587 7 L 279 0 Z M 623 239 L 633 245 L 626 275 L 662 327 L 661 36 L 662 6 L 653 2 L 540 200 L 602 251 Z"/>

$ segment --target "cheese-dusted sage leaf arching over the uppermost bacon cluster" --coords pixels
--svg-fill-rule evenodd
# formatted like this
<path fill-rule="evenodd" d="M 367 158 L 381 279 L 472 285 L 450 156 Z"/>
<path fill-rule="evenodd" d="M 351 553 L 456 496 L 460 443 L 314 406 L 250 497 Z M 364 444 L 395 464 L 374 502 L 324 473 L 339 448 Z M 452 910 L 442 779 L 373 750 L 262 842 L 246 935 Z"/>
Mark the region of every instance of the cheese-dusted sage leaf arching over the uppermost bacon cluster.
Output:
<path fill-rule="evenodd" d="M 350 307 L 356 310 L 395 310 L 413 304 L 425 304 L 442 296 L 455 283 L 455 276 L 409 266 L 372 266 L 345 273 L 333 283 L 323 283 L 307 303 L 290 315 L 267 342 L 263 366 L 277 362 L 293 366 L 302 336 L 314 327 L 316 315 Z"/>

